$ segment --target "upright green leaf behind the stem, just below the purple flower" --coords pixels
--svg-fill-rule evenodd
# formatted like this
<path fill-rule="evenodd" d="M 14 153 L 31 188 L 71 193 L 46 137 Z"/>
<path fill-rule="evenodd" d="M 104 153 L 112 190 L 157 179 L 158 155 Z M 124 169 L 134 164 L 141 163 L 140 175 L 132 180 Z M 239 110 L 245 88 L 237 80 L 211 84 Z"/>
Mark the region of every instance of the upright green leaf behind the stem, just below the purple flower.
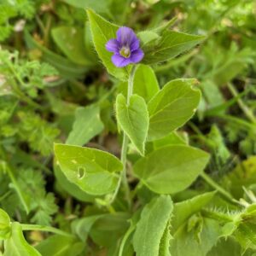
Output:
<path fill-rule="evenodd" d="M 133 79 L 134 94 L 148 102 L 159 90 L 154 70 L 147 65 L 138 65 Z"/>

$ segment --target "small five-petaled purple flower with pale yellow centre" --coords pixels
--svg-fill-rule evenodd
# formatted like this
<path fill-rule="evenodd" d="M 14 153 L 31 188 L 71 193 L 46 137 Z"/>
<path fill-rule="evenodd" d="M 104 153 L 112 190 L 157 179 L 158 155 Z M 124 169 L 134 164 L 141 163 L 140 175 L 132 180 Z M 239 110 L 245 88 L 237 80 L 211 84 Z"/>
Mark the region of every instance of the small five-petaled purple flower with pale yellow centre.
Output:
<path fill-rule="evenodd" d="M 113 52 L 112 62 L 116 67 L 125 67 L 143 59 L 140 41 L 130 27 L 121 26 L 116 32 L 116 39 L 110 39 L 106 49 Z"/>

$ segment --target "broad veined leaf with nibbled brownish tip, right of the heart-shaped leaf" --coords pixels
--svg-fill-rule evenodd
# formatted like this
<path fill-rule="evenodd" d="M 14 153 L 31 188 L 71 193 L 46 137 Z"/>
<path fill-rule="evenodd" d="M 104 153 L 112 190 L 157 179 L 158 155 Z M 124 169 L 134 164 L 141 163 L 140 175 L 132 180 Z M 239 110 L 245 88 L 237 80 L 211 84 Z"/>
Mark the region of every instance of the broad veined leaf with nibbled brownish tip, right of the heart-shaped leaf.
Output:
<path fill-rule="evenodd" d="M 195 83 L 195 79 L 172 80 L 148 102 L 148 140 L 165 137 L 194 115 L 201 98 Z"/>

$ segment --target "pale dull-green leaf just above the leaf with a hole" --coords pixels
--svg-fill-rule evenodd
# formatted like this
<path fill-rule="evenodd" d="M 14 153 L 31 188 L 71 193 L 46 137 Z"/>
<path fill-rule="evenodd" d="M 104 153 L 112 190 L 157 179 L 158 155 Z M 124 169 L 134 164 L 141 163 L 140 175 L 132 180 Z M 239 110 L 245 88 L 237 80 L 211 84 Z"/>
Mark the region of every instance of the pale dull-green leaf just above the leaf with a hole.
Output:
<path fill-rule="evenodd" d="M 67 144 L 82 146 L 91 138 L 102 132 L 104 125 L 100 118 L 100 108 L 91 105 L 86 108 L 77 108 L 73 130 L 67 137 Z"/>

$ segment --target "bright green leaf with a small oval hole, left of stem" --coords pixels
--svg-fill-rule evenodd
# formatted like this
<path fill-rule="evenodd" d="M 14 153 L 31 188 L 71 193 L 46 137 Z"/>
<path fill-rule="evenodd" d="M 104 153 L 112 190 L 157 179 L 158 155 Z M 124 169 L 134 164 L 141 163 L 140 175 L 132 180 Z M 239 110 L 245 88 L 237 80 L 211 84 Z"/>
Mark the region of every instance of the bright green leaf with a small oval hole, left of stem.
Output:
<path fill-rule="evenodd" d="M 55 144 L 55 156 L 67 179 L 90 195 L 111 193 L 123 170 L 115 156 L 95 148 Z"/>

